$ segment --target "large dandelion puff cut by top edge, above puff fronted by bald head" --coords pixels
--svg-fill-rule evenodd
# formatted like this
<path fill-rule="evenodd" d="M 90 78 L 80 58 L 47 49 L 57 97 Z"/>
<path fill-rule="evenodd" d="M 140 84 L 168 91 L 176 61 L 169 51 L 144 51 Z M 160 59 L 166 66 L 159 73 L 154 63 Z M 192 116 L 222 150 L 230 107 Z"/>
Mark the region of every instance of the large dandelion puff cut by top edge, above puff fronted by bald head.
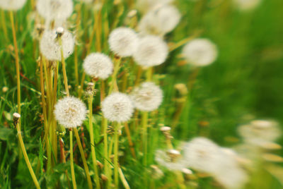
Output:
<path fill-rule="evenodd" d="M 38 0 L 37 12 L 46 20 L 66 20 L 73 13 L 71 0 Z"/>

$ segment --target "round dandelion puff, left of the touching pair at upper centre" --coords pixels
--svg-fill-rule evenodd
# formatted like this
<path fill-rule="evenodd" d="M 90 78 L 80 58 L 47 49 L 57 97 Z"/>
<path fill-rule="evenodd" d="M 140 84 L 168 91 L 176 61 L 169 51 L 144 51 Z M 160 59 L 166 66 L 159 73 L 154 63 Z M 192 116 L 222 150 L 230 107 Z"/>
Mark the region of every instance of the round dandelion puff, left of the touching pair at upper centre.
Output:
<path fill-rule="evenodd" d="M 115 54 L 125 57 L 132 56 L 137 49 L 139 38 L 136 32 L 130 28 L 117 28 L 110 33 L 108 43 L 111 51 Z"/>

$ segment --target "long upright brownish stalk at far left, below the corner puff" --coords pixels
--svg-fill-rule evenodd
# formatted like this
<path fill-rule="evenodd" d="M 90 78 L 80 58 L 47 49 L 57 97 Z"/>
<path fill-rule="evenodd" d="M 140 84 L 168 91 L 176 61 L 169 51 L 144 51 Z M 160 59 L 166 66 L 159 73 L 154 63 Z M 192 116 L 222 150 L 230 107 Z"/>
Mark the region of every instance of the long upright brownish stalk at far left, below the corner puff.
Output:
<path fill-rule="evenodd" d="M 16 59 L 16 75 L 17 75 L 17 102 L 18 102 L 18 114 L 21 114 L 21 81 L 20 81 L 20 60 L 18 57 L 18 44 L 16 38 L 15 22 L 13 19 L 13 11 L 10 11 L 10 20 L 13 32 L 13 46 L 15 47 L 15 59 Z M 21 130 L 21 120 L 18 123 Z"/>

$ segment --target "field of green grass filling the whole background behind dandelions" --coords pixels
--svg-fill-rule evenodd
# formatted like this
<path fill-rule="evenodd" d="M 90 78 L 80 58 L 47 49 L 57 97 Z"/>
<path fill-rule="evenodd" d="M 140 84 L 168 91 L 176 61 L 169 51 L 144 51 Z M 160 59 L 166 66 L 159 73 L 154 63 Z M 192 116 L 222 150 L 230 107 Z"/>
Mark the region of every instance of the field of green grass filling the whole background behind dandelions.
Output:
<path fill-rule="evenodd" d="M 74 2 L 76 5 L 74 13 L 68 22 L 69 30 L 76 32 L 76 37 L 78 37 L 76 45 L 80 81 L 83 74 L 82 63 L 88 48 L 86 44 L 93 31 L 94 8 L 86 4 L 79 5 L 78 1 Z M 40 61 L 37 61 L 40 51 L 37 40 L 32 37 L 36 32 L 35 23 L 38 22 L 38 15 L 33 11 L 34 3 L 35 1 L 28 0 L 20 11 L 13 13 L 21 65 L 21 135 L 40 187 L 72 188 L 69 131 L 66 130 L 66 135 L 62 138 L 65 143 L 64 150 L 67 152 L 66 163 L 59 161 L 58 143 L 57 157 L 50 156 L 53 159 L 52 168 L 51 171 L 47 171 L 47 162 L 50 159 L 47 158 L 47 152 L 42 147 L 45 126 L 41 103 Z M 175 6 L 178 7 L 182 18 L 175 30 L 165 35 L 166 42 L 175 44 L 187 37 L 205 37 L 216 44 L 219 56 L 209 66 L 194 68 L 182 63 L 180 58 L 182 47 L 179 47 L 170 52 L 165 63 L 154 67 L 153 80 L 163 90 L 163 102 L 158 110 L 149 113 L 147 163 L 143 163 L 144 147 L 141 142 L 140 114 L 134 114 L 128 124 L 130 137 L 134 143 L 134 155 L 125 127 L 122 128 L 119 140 L 119 164 L 130 188 L 184 187 L 176 178 L 178 174 L 162 166 L 159 168 L 163 171 L 164 176 L 159 179 L 153 176 L 151 165 L 157 164 L 154 161 L 155 151 L 166 149 L 166 138 L 159 130 L 161 126 L 172 126 L 172 143 L 175 148 L 178 148 L 182 141 L 188 141 L 197 136 L 209 138 L 223 147 L 233 147 L 242 142 L 237 128 L 243 123 L 258 118 L 270 118 L 278 121 L 279 124 L 283 123 L 283 1 L 262 0 L 260 6 L 246 12 L 236 9 L 230 0 L 200 0 L 197 2 L 176 0 Z M 130 10 L 128 1 L 114 4 L 113 1 L 105 0 L 101 11 L 101 25 L 108 25 L 110 31 L 125 25 L 127 13 Z M 81 23 L 79 28 L 76 28 L 78 15 L 81 16 Z M 137 18 L 140 17 L 141 13 L 138 12 Z M 1 10 L 0 23 L 0 188 L 34 188 L 33 179 L 30 177 L 18 143 L 16 128 L 13 126 L 13 113 L 18 111 L 16 54 L 8 11 Z M 103 27 L 101 32 L 102 51 L 113 57 L 107 44 L 108 32 Z M 94 37 L 90 46 L 91 52 L 98 51 L 97 40 Z M 78 97 L 79 83 L 76 81 L 75 59 L 75 55 L 72 54 L 66 60 L 67 78 L 71 85 L 70 94 Z M 120 90 L 125 84 L 123 82 L 125 74 L 127 74 L 125 87 L 127 92 L 132 89 L 137 77 L 137 66 L 129 58 L 125 59 L 117 73 L 117 84 Z M 86 76 L 86 81 L 90 80 Z M 111 80 L 112 78 L 109 78 L 105 83 L 110 83 Z M 145 80 L 145 75 L 142 75 L 141 80 Z M 190 88 L 185 97 L 183 111 L 180 112 L 180 119 L 175 124 L 173 118 L 180 108 L 180 103 L 176 102 L 176 99 L 180 98 L 180 93 L 175 90 L 175 85 L 178 83 L 188 83 Z M 98 81 L 93 102 L 93 126 L 96 157 L 104 164 L 100 87 L 101 82 Z M 61 99 L 64 95 L 62 65 L 59 64 L 57 99 Z M 87 99 L 82 99 L 87 104 Z M 111 124 L 108 123 L 113 126 Z M 86 161 L 94 186 L 96 181 L 91 159 L 88 120 L 84 121 L 83 126 L 78 129 L 79 134 L 84 135 L 81 137 L 84 138 L 83 150 L 86 153 Z M 113 142 L 110 134 L 108 134 L 108 142 Z M 279 138 L 277 143 L 283 145 L 283 138 Z M 274 153 L 283 156 L 282 150 Z M 52 154 L 54 155 L 54 152 Z M 111 161 L 110 158 L 108 161 Z M 74 138 L 74 164 L 77 187 L 87 188 L 88 183 L 76 138 Z M 112 165 L 112 162 L 110 164 Z M 272 163 L 273 166 L 278 167 L 278 172 L 281 171 L 277 175 L 264 169 L 265 164 L 270 164 L 270 162 L 262 163 L 257 171 L 250 173 L 250 182 L 246 188 L 279 189 L 283 187 L 282 174 L 278 176 L 283 173 L 282 162 Z M 98 171 L 105 174 L 104 168 L 100 166 L 98 166 Z M 211 177 L 196 177 L 183 181 L 185 188 L 221 188 L 221 185 L 213 181 Z M 100 178 L 100 183 L 105 188 L 108 186 L 103 178 Z M 118 186 L 112 187 L 118 188 Z M 125 183 L 123 179 L 120 179 L 119 188 L 124 187 Z"/>

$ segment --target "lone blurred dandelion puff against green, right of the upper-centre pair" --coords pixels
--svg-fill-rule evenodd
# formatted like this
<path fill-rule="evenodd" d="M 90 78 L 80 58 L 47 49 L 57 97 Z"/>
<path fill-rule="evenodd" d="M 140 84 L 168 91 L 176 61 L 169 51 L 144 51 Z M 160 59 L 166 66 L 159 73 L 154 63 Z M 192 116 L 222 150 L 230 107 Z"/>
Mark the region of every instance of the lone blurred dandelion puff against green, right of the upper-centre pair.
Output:
<path fill-rule="evenodd" d="M 183 48 L 183 56 L 194 66 L 207 66 L 217 57 L 217 49 L 209 39 L 192 39 Z"/>

